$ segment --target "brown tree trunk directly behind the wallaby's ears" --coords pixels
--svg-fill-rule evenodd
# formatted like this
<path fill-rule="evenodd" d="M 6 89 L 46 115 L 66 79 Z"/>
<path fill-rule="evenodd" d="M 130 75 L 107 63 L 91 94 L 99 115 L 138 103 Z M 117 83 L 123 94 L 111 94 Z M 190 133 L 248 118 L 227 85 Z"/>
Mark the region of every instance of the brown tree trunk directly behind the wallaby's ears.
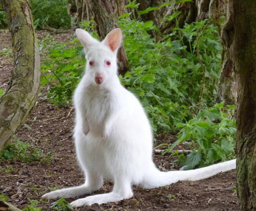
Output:
<path fill-rule="evenodd" d="M 113 1 L 113 0 L 112 0 Z M 111 4 L 112 1 L 107 0 L 90 0 L 90 10 L 94 15 L 94 21 L 96 22 L 96 28 L 98 35 L 101 39 L 112 29 L 118 27 L 116 21 L 116 13 L 121 12 L 120 5 L 116 4 L 116 7 Z M 112 3 L 114 3 L 113 1 Z M 117 1 L 119 2 L 119 1 Z M 119 8 L 119 9 L 116 9 Z M 125 47 L 122 45 L 117 54 L 119 74 L 125 75 L 125 72 L 129 70 L 128 58 L 126 56 Z"/>

